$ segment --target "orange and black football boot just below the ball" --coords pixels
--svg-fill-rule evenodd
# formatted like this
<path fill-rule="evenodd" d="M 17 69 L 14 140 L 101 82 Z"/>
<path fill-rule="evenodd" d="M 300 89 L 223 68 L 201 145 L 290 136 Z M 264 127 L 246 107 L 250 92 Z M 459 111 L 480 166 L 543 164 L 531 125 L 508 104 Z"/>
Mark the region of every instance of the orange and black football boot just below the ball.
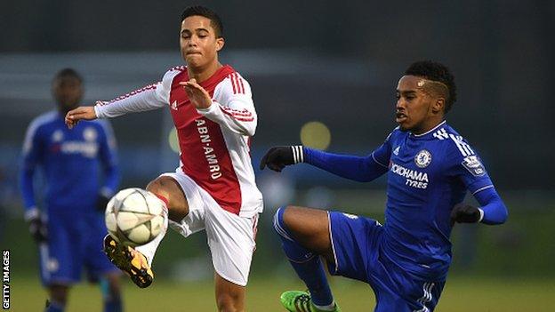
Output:
<path fill-rule="evenodd" d="M 149 287 L 154 279 L 154 273 L 149 266 L 149 260 L 131 246 L 119 244 L 107 235 L 104 237 L 104 253 L 117 268 L 125 272 L 134 284 L 140 288 Z"/>

